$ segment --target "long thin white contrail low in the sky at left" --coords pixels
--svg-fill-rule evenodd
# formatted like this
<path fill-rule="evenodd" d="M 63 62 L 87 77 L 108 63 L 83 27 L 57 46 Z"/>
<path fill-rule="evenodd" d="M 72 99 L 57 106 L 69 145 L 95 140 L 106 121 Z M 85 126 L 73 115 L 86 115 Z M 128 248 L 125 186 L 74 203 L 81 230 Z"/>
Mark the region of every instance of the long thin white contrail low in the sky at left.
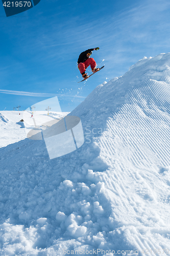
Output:
<path fill-rule="evenodd" d="M 22 96 L 32 96 L 32 97 L 72 97 L 72 98 L 86 98 L 79 95 L 68 95 L 68 94 L 54 94 L 54 93 L 31 93 L 31 92 L 20 92 L 20 91 L 11 91 L 11 90 L 0 90 L 0 93 L 13 94 L 13 95 L 22 95 Z"/>

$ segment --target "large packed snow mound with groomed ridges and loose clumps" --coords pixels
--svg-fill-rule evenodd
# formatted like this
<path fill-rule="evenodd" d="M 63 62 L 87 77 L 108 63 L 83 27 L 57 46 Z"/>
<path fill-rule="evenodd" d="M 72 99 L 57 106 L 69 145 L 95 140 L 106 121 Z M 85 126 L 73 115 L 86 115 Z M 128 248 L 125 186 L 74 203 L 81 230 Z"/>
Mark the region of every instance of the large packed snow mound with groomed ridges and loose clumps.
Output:
<path fill-rule="evenodd" d="M 169 95 L 170 53 L 144 57 L 70 113 L 77 151 L 50 160 L 22 136 L 0 148 L 0 255 L 169 255 Z"/>

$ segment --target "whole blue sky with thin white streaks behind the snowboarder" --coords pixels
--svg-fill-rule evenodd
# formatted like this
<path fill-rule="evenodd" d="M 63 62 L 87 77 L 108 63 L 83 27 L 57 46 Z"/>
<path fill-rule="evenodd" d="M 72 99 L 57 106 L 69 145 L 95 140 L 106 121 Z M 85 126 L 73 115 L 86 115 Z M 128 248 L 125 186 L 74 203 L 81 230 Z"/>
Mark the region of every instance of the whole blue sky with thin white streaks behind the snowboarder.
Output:
<path fill-rule="evenodd" d="M 41 0 L 6 17 L 0 3 L 0 110 L 25 110 L 55 95 L 62 111 L 73 110 L 139 59 L 169 52 L 169 11 L 168 0 Z M 105 68 L 78 83 L 79 54 L 93 47 L 100 47 L 92 57 Z"/>

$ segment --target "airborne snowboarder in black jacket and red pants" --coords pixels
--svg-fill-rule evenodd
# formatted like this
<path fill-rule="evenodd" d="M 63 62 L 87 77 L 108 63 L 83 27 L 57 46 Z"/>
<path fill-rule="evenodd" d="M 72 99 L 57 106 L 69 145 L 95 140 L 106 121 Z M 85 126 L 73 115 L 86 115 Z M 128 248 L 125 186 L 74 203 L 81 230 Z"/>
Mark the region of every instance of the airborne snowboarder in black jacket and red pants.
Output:
<path fill-rule="evenodd" d="M 78 68 L 80 70 L 80 73 L 82 74 L 83 78 L 87 79 L 89 76 L 85 73 L 88 66 L 91 67 L 91 70 L 93 73 L 99 71 L 99 69 L 96 68 L 96 62 L 93 58 L 90 58 L 90 55 L 92 54 L 92 51 L 99 50 L 99 47 L 88 49 L 85 52 L 82 52 L 78 58 Z"/>

